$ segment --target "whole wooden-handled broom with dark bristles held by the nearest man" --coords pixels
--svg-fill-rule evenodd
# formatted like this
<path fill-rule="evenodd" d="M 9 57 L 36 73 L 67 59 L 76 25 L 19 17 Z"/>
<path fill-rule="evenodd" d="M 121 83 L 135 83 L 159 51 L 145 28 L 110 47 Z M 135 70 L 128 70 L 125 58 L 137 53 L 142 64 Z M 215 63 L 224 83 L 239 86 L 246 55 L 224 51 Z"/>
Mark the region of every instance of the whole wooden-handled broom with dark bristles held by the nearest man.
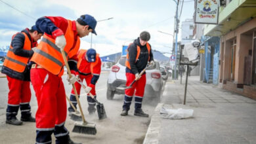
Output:
<path fill-rule="evenodd" d="M 66 68 L 68 70 L 68 77 L 71 77 L 70 67 L 68 66 L 68 61 L 66 59 L 66 54 L 65 54 L 65 52 L 62 48 L 60 48 L 60 51 L 61 51 L 64 63 L 66 65 Z M 81 111 L 81 116 L 82 116 L 82 119 L 83 119 L 83 122 L 75 122 L 75 126 L 74 126 L 72 132 L 76 132 L 76 133 L 79 133 L 79 134 L 95 135 L 96 132 L 97 132 L 96 128 L 95 128 L 96 124 L 95 123 L 89 123 L 85 120 L 85 116 L 83 115 L 83 109 L 81 107 L 81 104 L 80 104 L 80 101 L 79 101 L 79 98 L 78 98 L 78 95 L 77 95 L 75 84 L 72 84 L 72 86 L 73 86 L 73 90 L 75 92 L 75 98 L 77 100 L 79 109 Z"/>

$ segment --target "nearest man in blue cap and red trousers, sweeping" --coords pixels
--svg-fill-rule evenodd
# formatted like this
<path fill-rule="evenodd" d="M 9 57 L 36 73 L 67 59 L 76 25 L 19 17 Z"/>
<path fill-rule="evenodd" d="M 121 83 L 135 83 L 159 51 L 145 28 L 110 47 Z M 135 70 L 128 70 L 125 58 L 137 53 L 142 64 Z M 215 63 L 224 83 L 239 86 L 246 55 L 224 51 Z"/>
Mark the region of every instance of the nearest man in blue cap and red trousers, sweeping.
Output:
<path fill-rule="evenodd" d="M 68 65 L 73 71 L 68 82 L 75 82 L 73 57 L 80 46 L 79 37 L 95 33 L 96 20 L 88 14 L 77 20 L 67 20 L 60 16 L 44 16 L 36 21 L 38 29 L 44 32 L 31 61 L 31 79 L 38 109 L 36 119 L 36 143 L 52 143 L 54 133 L 56 143 L 74 143 L 65 128 L 66 94 L 61 76 L 64 73 L 64 59 L 61 49 L 66 53 Z"/>

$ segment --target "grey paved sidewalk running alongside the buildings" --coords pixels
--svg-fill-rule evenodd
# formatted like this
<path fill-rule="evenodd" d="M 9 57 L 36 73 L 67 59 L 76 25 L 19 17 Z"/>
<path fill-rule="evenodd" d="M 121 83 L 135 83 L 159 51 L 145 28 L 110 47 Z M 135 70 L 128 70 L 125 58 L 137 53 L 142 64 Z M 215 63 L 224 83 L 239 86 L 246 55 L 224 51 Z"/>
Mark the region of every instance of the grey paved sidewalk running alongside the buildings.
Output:
<path fill-rule="evenodd" d="M 144 143 L 256 143 L 256 101 L 188 77 L 168 80 L 155 109 Z M 163 119 L 161 107 L 194 109 L 194 118 Z"/>

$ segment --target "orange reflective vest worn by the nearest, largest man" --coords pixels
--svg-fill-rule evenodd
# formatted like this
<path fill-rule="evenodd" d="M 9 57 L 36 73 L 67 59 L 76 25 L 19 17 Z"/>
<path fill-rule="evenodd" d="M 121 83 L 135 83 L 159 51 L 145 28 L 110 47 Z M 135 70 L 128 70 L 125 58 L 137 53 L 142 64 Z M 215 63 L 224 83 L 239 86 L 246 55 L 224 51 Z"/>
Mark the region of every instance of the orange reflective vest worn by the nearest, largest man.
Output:
<path fill-rule="evenodd" d="M 77 35 L 74 35 L 71 20 L 68 20 L 68 28 L 66 29 L 64 37 L 66 38 L 64 52 L 66 56 L 68 54 L 68 58 L 72 58 L 79 50 L 80 39 Z M 77 42 L 74 45 L 75 37 L 77 37 Z M 43 35 L 31 61 L 37 63 L 44 69 L 47 69 L 47 71 L 50 71 L 54 75 L 58 75 L 58 77 L 61 77 L 64 73 L 63 66 L 65 64 L 60 48 L 55 45 L 55 39 L 48 37 L 47 35 Z"/>

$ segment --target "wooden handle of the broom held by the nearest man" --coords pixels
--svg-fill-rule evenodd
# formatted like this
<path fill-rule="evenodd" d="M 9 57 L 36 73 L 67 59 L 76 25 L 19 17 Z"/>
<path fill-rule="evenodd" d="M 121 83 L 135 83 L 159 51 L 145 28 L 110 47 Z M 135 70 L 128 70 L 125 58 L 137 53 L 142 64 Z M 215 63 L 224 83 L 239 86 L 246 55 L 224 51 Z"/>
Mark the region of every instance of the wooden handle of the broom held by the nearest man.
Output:
<path fill-rule="evenodd" d="M 61 54 L 62 54 L 64 63 L 65 63 L 65 65 L 66 65 L 66 67 L 67 67 L 67 70 L 68 70 L 68 77 L 72 77 L 71 72 L 70 72 L 70 66 L 68 65 L 68 61 L 67 61 L 67 59 L 66 59 L 66 54 L 65 54 L 65 52 L 64 52 L 64 50 L 63 50 L 62 48 L 60 48 L 60 51 L 61 51 Z M 84 122 L 84 123 L 87 123 L 87 122 L 85 121 L 85 116 L 83 115 L 83 109 L 82 109 L 82 107 L 81 107 L 81 104 L 80 104 L 80 101 L 79 101 L 79 98 L 78 98 L 78 95 L 77 95 L 77 91 L 76 91 L 76 88 L 75 88 L 75 84 L 72 84 L 72 86 L 73 86 L 73 90 L 74 90 L 74 92 L 75 92 L 75 98 L 76 98 L 76 101 L 77 101 L 77 103 L 78 103 L 78 106 L 79 106 L 79 109 L 80 109 L 80 112 L 81 112 L 81 116 L 82 116 L 83 122 Z"/>

